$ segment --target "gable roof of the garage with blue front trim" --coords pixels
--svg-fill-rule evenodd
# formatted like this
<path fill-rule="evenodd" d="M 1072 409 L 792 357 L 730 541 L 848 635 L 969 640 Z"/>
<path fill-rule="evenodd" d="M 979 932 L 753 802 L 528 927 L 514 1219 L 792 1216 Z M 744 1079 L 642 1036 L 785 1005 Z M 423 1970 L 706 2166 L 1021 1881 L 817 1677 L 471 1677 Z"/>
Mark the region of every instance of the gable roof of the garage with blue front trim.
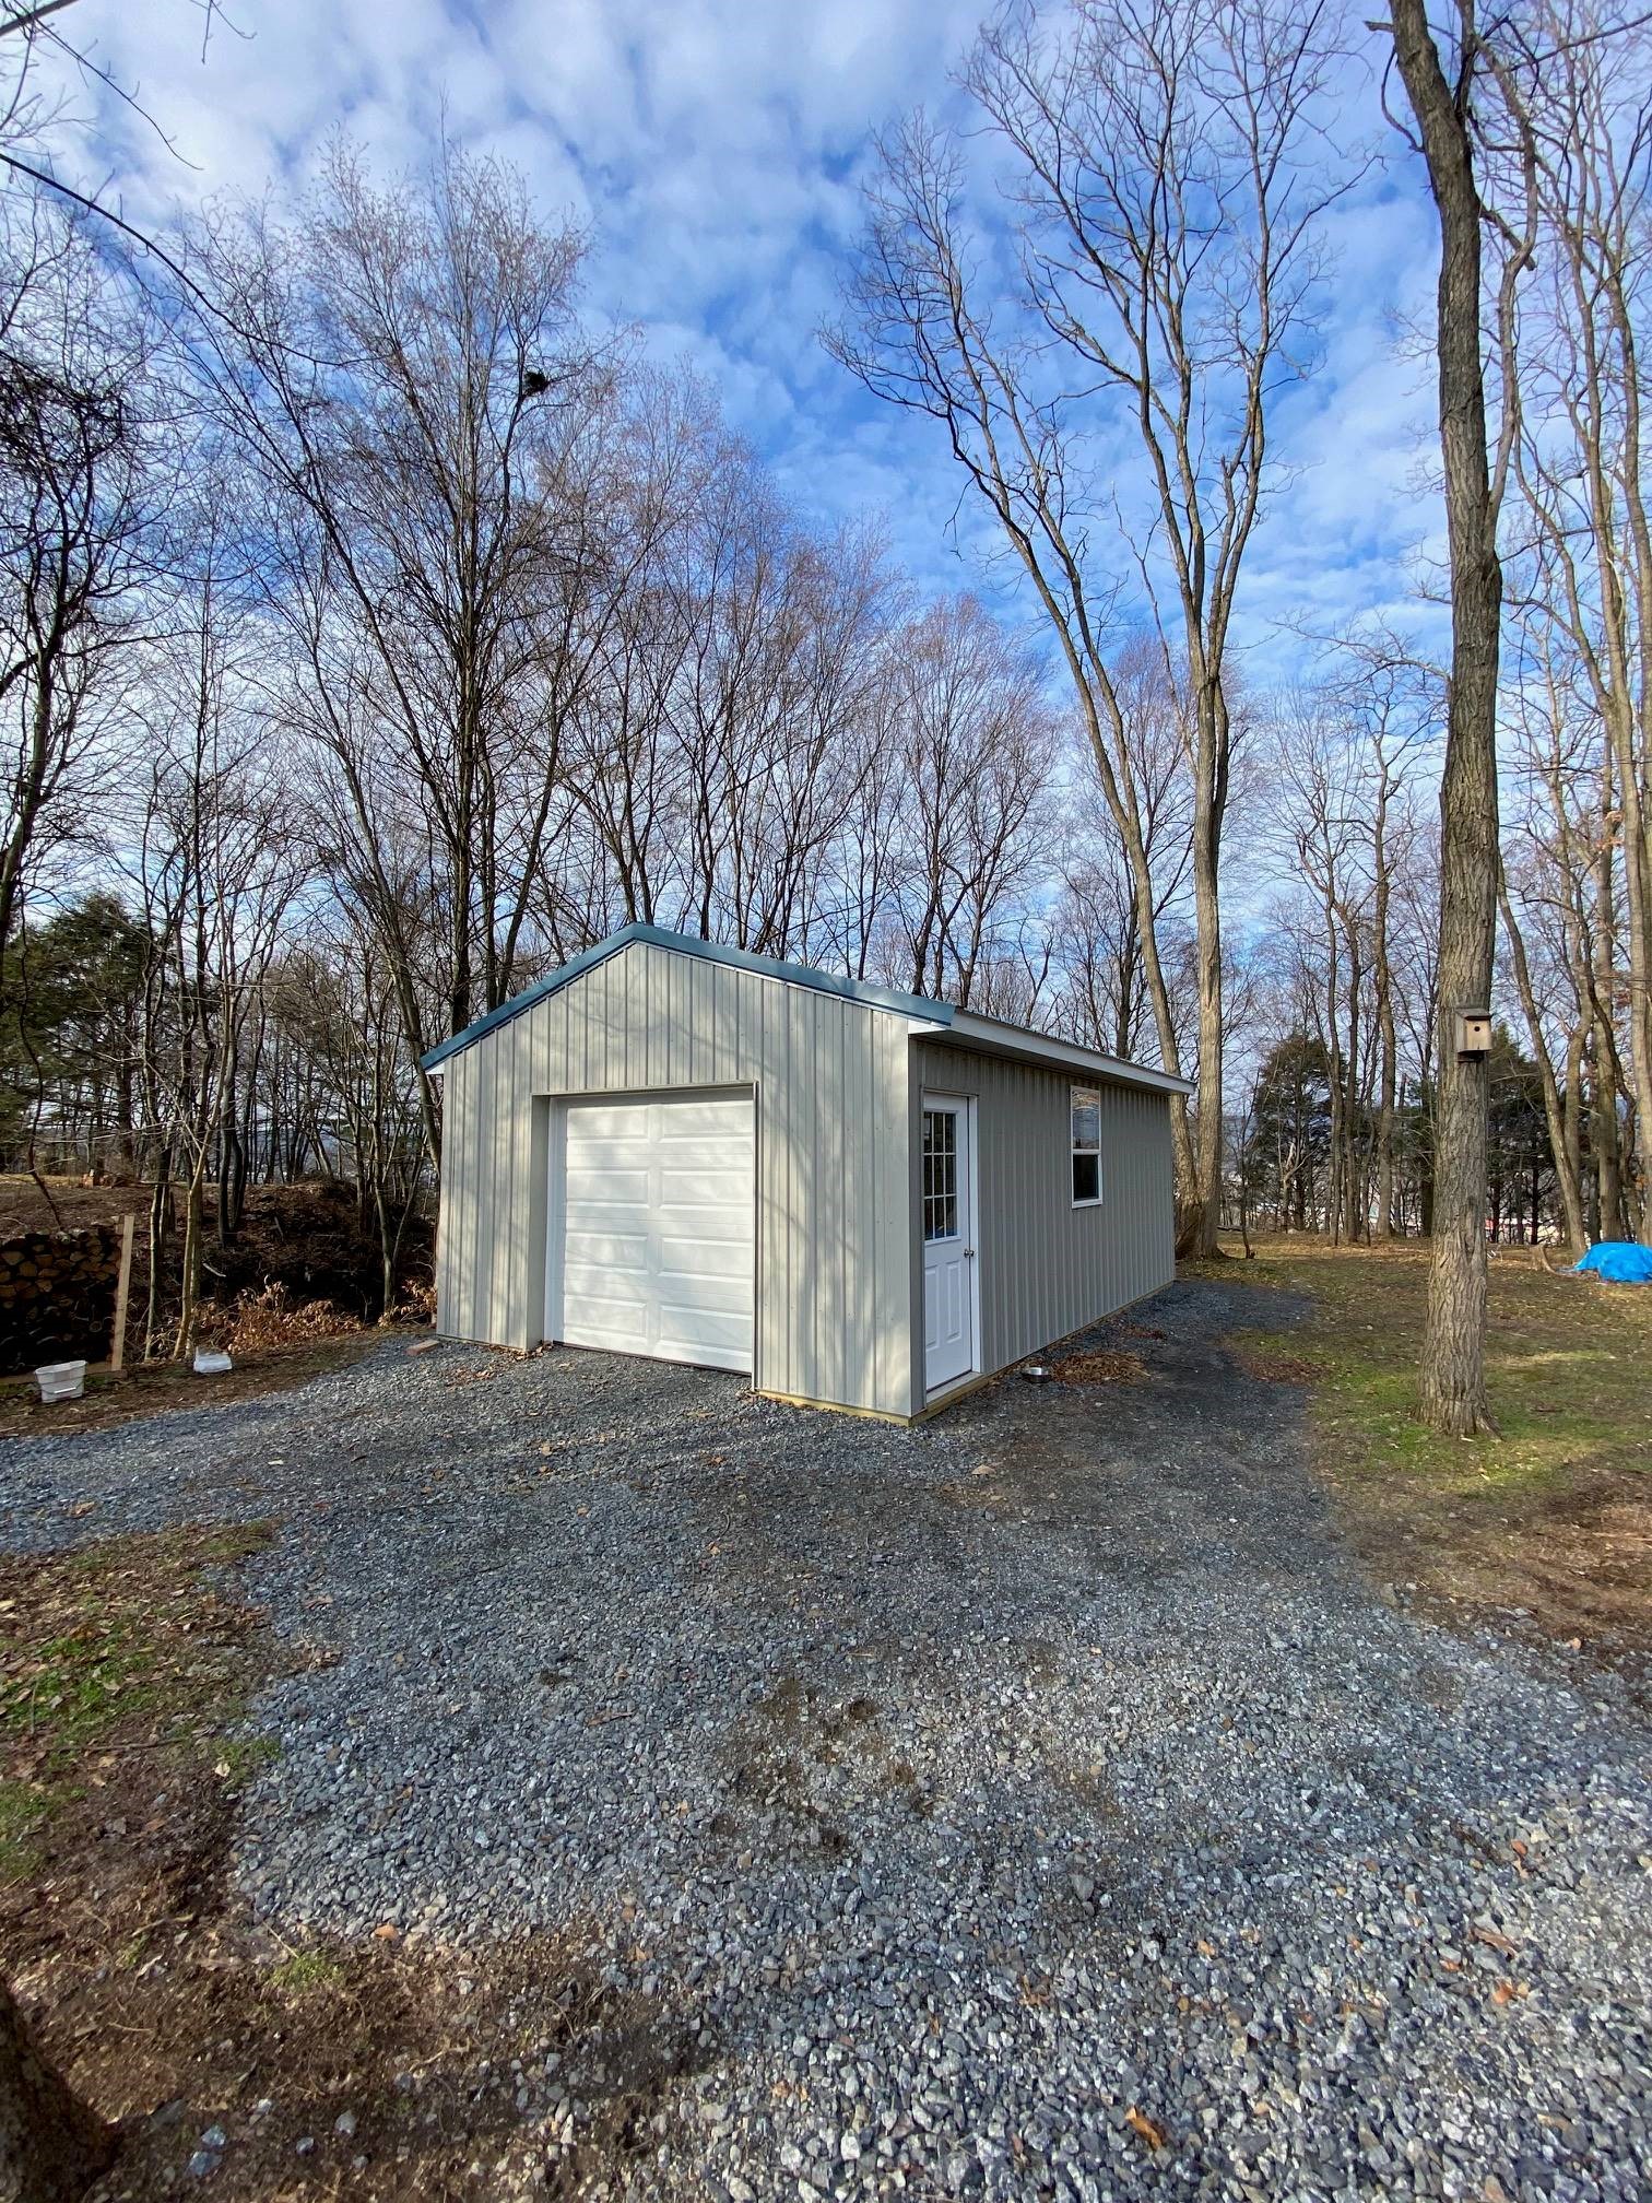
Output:
<path fill-rule="evenodd" d="M 670 949 L 674 956 L 700 956 L 705 963 L 727 965 L 733 972 L 756 972 L 760 978 L 778 978 L 791 987 L 811 987 L 815 994 L 837 994 L 848 1002 L 863 1002 L 870 1009 L 888 1009 L 896 1018 L 907 1018 L 914 1024 L 925 1027 L 925 1033 L 932 1040 L 949 1040 L 958 1046 L 980 1046 L 989 1053 L 998 1051 L 1007 1055 L 1024 1055 L 1037 1062 L 1059 1064 L 1068 1071 L 1090 1071 L 1097 1077 L 1119 1079 L 1128 1086 L 1150 1086 L 1159 1093 L 1194 1090 L 1187 1079 L 1172 1077 L 1167 1071 L 1148 1071 L 1143 1064 L 1126 1064 L 1115 1055 L 1101 1055 L 1097 1049 L 1079 1049 L 1066 1040 L 1051 1040 L 1048 1033 L 1035 1033 L 1029 1024 L 1007 1024 L 998 1018 L 978 1018 L 971 1011 L 958 1009 L 954 1002 L 932 1002 L 930 996 L 901 994 L 896 987 L 879 987 L 866 978 L 846 978 L 841 972 L 817 972 L 813 965 L 786 963 L 780 956 L 756 956 L 751 949 L 725 947 L 720 941 L 700 941 L 694 934 L 672 934 L 663 925 L 621 925 L 617 934 L 608 934 L 606 941 L 599 941 L 595 947 L 584 949 L 584 954 L 573 956 L 566 965 L 557 965 L 555 972 L 546 972 L 546 976 L 533 987 L 524 987 L 522 994 L 513 994 L 509 1002 L 500 1002 L 498 1009 L 489 1009 L 485 1018 L 476 1018 L 460 1033 L 454 1033 L 452 1040 L 438 1042 L 421 1055 L 423 1068 L 438 1071 L 449 1057 L 474 1046 L 487 1033 L 498 1031 L 498 1027 L 509 1024 L 511 1018 L 520 1018 L 522 1011 L 533 1009 L 535 1002 L 544 1002 L 548 996 L 559 994 L 586 972 L 595 972 L 599 963 L 606 963 L 621 949 L 632 947 L 632 943 Z"/>

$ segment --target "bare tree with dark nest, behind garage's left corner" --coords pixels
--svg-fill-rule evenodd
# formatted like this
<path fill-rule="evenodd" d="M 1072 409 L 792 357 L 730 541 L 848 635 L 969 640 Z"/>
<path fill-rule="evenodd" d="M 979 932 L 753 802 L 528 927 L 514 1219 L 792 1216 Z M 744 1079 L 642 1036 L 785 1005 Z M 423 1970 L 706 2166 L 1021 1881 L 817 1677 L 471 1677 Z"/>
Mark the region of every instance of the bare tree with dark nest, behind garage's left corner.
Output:
<path fill-rule="evenodd" d="M 337 775 L 419 1055 L 432 965 L 452 1029 L 515 983 L 590 668 L 612 454 L 575 315 L 582 240 L 498 163 L 443 145 L 379 192 L 339 145 L 295 225 L 251 211 L 200 253 L 211 401 L 262 485 L 260 571 L 295 645 L 289 716 Z M 421 1106 L 434 1159 L 423 1075 Z"/>

